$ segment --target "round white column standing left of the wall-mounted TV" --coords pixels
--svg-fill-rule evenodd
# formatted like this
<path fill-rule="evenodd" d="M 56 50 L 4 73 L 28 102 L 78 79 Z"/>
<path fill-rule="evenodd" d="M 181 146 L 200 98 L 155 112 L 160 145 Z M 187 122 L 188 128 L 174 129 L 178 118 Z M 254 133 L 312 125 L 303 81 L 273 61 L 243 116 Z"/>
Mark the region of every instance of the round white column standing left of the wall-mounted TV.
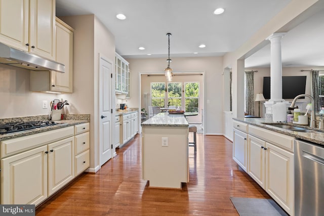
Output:
<path fill-rule="evenodd" d="M 286 33 L 273 33 L 267 39 L 271 42 L 270 58 L 270 100 L 273 102 L 282 99 L 282 63 L 281 63 L 281 38 Z"/>

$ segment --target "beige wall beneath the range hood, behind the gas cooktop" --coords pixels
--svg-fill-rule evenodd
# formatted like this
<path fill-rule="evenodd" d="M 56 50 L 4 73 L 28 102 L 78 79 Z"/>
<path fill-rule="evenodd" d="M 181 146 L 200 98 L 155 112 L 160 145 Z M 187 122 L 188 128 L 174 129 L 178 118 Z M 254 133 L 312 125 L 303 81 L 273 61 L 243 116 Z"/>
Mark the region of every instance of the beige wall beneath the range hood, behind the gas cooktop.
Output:
<path fill-rule="evenodd" d="M 0 118 L 47 115 L 50 101 L 61 99 L 58 94 L 30 92 L 30 72 L 27 69 L 0 64 Z M 43 101 L 48 108 L 43 109 Z"/>

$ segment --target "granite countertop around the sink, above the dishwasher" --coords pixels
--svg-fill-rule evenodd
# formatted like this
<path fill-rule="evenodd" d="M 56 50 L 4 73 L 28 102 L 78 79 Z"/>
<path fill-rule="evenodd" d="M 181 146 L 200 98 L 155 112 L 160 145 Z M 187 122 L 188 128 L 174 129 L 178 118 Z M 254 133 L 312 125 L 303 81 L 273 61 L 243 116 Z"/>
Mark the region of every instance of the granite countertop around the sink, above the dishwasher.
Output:
<path fill-rule="evenodd" d="M 306 140 L 306 141 L 313 142 L 313 143 L 324 146 L 324 130 L 323 129 L 316 129 L 316 128 L 311 128 L 309 126 L 303 126 L 303 125 L 292 124 L 292 123 L 276 123 L 276 122 L 273 122 L 272 119 L 269 120 L 269 119 L 265 119 L 265 118 L 233 118 L 233 119 L 236 121 L 244 122 L 244 123 L 251 124 L 254 126 L 262 127 L 262 128 L 268 129 L 273 132 L 285 134 L 285 135 L 288 135 L 291 137 L 295 137 L 297 139 Z M 273 126 L 273 124 L 293 125 L 293 126 L 302 127 L 302 128 L 311 130 L 312 132 L 291 131 L 289 129 L 284 129 L 284 128 Z"/>

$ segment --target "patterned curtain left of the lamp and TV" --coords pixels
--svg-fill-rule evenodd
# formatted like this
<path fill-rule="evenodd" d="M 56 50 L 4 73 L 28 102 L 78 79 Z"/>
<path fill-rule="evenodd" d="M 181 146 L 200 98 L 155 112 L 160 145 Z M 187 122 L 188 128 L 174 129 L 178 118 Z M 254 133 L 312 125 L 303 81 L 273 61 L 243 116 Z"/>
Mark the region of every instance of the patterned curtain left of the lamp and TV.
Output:
<path fill-rule="evenodd" d="M 246 112 L 249 115 L 254 115 L 254 72 L 253 71 L 246 71 L 245 72 L 245 105 L 246 105 Z"/>

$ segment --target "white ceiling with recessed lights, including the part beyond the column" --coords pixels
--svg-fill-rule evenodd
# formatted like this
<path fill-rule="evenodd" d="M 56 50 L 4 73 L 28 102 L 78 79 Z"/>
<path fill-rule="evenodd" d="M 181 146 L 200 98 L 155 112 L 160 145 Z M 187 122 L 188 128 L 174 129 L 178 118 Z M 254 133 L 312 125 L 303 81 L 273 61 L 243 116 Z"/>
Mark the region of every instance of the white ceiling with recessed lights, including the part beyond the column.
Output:
<path fill-rule="evenodd" d="M 291 0 L 56 0 L 57 16 L 95 14 L 115 36 L 124 58 L 223 56 L 235 51 Z M 224 8 L 214 15 L 216 8 Z M 324 65 L 324 11 L 282 38 L 283 64 Z M 126 20 L 118 20 L 123 13 Z M 306 38 L 306 39 L 305 39 Z M 301 42 L 302 40 L 302 42 Z M 205 44 L 206 48 L 198 48 Z M 139 47 L 145 47 L 143 51 Z M 198 54 L 193 54 L 197 52 Z M 147 56 L 147 54 L 152 54 Z M 316 58 L 320 57 L 319 60 Z M 306 61 L 307 60 L 307 61 Z M 246 60 L 246 67 L 269 66 L 270 46 Z"/>

